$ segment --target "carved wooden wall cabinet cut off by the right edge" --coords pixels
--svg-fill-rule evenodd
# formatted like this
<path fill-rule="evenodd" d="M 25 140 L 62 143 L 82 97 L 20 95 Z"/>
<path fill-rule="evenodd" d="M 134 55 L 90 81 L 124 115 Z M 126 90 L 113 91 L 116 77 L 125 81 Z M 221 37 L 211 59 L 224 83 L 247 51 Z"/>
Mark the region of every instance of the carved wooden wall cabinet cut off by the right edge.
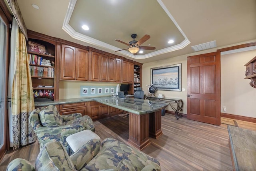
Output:
<path fill-rule="evenodd" d="M 247 64 L 244 65 L 246 67 L 245 76 L 244 79 L 250 79 L 250 85 L 254 88 L 256 88 L 256 56 L 252 58 Z"/>

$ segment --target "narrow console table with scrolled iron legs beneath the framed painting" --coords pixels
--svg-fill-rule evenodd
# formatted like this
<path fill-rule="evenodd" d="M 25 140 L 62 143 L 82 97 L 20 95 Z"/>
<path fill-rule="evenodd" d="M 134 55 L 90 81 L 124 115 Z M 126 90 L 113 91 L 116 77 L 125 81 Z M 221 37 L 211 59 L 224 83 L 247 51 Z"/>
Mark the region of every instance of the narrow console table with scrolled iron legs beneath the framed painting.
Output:
<path fill-rule="evenodd" d="M 172 107 L 172 109 L 175 112 L 176 119 L 179 119 L 179 117 L 182 117 L 182 114 L 180 114 L 180 111 L 182 111 L 183 107 L 183 101 L 182 99 L 177 98 L 160 98 L 160 97 L 150 97 L 146 96 L 146 99 L 148 100 L 154 100 L 154 101 L 164 101 L 169 103 L 169 106 Z M 173 105 L 173 103 L 176 103 L 176 107 Z"/>

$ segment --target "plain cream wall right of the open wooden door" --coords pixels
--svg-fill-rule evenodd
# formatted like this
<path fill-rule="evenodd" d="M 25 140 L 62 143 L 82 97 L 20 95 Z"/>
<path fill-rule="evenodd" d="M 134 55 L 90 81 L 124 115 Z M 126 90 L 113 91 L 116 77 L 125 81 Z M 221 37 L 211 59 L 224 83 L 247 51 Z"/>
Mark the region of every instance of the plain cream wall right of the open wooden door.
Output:
<path fill-rule="evenodd" d="M 255 50 L 221 55 L 222 113 L 256 117 L 256 89 L 249 85 L 250 79 L 244 79 L 244 65 L 254 56 Z"/>

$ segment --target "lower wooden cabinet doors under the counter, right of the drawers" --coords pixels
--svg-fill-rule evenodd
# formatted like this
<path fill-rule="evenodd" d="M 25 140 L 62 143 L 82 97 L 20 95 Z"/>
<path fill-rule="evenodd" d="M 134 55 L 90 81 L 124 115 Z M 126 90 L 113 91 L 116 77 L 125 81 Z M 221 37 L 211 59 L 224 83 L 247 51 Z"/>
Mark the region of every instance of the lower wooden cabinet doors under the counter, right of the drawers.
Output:
<path fill-rule="evenodd" d="M 103 117 L 107 117 L 109 115 L 108 113 L 108 105 L 104 105 L 102 103 L 98 103 L 96 101 L 90 101 L 88 102 L 90 103 L 89 106 L 89 113 L 90 113 L 90 117 L 92 119 L 100 119 Z"/>

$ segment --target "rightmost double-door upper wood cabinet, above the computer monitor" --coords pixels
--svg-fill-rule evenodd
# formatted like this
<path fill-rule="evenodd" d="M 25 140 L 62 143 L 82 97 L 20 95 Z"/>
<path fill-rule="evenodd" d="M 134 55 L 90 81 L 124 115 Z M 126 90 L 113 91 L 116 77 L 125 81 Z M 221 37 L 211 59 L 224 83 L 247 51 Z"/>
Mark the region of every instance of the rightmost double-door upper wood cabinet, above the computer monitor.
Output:
<path fill-rule="evenodd" d="M 133 83 L 134 81 L 134 64 L 122 60 L 122 82 L 123 83 Z"/>

